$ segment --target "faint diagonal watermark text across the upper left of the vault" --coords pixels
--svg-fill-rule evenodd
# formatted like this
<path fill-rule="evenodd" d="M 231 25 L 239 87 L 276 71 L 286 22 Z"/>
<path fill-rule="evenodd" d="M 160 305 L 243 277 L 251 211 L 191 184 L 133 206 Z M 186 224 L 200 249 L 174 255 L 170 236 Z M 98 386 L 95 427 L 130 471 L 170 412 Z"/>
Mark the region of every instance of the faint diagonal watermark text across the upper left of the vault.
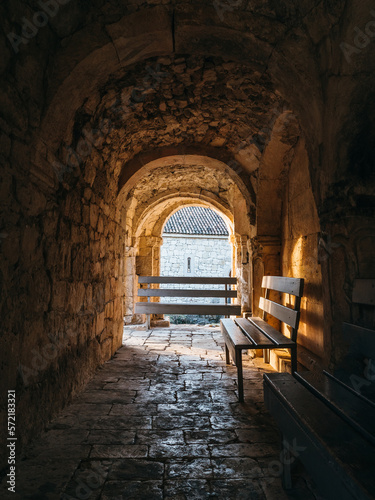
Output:
<path fill-rule="evenodd" d="M 64 146 L 63 162 L 55 160 L 52 164 L 59 182 L 62 182 L 65 174 L 79 169 L 83 161 L 91 155 L 93 149 L 99 147 L 106 136 L 115 128 L 115 120 L 118 118 L 124 121 L 135 110 L 136 106 L 146 99 L 147 92 L 157 89 L 168 74 L 161 71 L 160 64 L 156 64 L 154 67 L 146 66 L 146 72 L 142 83 L 133 89 L 127 103 L 119 103 L 117 100 L 109 108 L 109 115 L 112 116 L 112 119 L 102 118 L 98 128 L 83 129 L 82 136 L 74 149 L 70 146 Z"/>

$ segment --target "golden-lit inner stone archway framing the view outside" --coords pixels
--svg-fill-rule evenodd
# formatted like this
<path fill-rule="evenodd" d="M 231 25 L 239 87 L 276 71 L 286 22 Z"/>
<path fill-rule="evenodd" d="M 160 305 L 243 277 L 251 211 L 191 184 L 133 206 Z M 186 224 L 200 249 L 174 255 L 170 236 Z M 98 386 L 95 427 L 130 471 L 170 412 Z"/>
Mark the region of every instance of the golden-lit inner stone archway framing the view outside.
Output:
<path fill-rule="evenodd" d="M 127 170 L 127 166 L 124 166 Z M 158 275 L 163 227 L 182 206 L 200 205 L 217 211 L 232 228 L 234 273 L 244 312 L 251 308 L 251 265 L 248 241 L 253 201 L 240 177 L 227 164 L 200 155 L 174 155 L 152 160 L 137 170 L 119 197 L 127 211 L 126 316 L 133 318 L 137 275 Z"/>

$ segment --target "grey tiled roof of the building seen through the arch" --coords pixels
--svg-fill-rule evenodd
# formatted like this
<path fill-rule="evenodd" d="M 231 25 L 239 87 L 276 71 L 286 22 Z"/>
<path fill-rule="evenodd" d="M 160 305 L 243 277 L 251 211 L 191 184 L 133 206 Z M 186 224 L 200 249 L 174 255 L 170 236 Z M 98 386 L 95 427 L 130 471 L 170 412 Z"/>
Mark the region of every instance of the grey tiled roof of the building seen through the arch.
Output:
<path fill-rule="evenodd" d="M 213 210 L 184 207 L 173 214 L 164 227 L 164 234 L 203 234 L 228 236 L 223 219 Z"/>

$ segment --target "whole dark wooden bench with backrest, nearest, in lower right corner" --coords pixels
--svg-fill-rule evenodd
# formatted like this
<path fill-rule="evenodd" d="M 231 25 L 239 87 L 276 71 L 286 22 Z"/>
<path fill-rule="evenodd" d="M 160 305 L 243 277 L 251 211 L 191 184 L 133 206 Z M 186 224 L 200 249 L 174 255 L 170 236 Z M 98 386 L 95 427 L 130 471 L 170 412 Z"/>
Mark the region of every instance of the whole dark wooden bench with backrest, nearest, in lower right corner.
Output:
<path fill-rule="evenodd" d="M 355 280 L 352 302 L 373 317 L 375 280 Z M 347 354 L 334 376 L 264 375 L 264 400 L 283 436 L 282 456 L 294 448 L 324 498 L 364 500 L 375 497 L 375 331 L 344 323 L 342 338 Z M 283 464 L 285 488 L 291 461 Z"/>

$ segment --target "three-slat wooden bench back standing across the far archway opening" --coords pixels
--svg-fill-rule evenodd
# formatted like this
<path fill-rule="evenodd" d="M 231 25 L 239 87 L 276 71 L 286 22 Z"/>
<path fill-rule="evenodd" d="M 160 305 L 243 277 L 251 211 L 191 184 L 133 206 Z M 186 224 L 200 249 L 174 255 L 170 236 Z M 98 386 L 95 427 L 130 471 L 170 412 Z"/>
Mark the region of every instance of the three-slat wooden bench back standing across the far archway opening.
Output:
<path fill-rule="evenodd" d="M 197 314 L 216 316 L 237 316 L 241 314 L 241 306 L 229 304 L 228 299 L 236 298 L 237 291 L 230 287 L 237 285 L 236 278 L 221 277 L 191 277 L 191 276 L 139 276 L 138 283 L 146 285 L 146 288 L 139 288 L 138 297 L 147 297 L 147 302 L 137 302 L 135 304 L 136 314 L 147 315 L 147 327 L 150 327 L 151 314 Z M 161 284 L 173 285 L 222 285 L 219 289 L 178 289 L 159 288 Z M 151 288 L 156 285 L 157 288 Z M 151 302 L 151 297 L 212 297 L 224 298 L 224 304 L 210 303 L 174 303 L 174 302 Z"/>

